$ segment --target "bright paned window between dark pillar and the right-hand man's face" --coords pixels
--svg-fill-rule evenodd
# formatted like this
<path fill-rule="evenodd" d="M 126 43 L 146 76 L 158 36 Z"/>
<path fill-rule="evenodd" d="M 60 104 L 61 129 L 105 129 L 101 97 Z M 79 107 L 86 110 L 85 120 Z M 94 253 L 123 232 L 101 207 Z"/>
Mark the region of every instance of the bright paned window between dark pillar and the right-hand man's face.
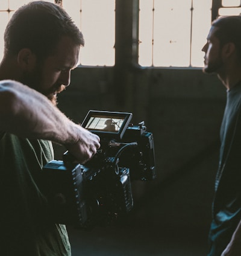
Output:
<path fill-rule="evenodd" d="M 202 66 L 211 0 L 140 0 L 139 64 Z"/>

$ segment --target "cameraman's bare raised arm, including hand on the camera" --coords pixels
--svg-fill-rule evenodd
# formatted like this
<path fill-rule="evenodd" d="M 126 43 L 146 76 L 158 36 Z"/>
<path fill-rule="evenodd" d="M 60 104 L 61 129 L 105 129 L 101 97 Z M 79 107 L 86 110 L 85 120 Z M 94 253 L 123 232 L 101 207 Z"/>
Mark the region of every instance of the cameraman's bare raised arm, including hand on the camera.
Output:
<path fill-rule="evenodd" d="M 62 144 L 84 163 L 99 148 L 99 137 L 67 118 L 44 95 L 18 82 L 0 82 L 0 130 Z"/>

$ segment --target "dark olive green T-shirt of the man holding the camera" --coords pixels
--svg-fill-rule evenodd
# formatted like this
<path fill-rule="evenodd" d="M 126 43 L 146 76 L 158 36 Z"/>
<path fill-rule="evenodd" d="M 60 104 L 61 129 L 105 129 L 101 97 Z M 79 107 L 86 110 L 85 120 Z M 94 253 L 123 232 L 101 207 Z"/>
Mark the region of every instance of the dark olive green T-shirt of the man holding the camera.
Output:
<path fill-rule="evenodd" d="M 42 167 L 53 159 L 49 141 L 0 134 L 0 254 L 69 256 L 64 225 L 55 224 L 42 194 Z"/>

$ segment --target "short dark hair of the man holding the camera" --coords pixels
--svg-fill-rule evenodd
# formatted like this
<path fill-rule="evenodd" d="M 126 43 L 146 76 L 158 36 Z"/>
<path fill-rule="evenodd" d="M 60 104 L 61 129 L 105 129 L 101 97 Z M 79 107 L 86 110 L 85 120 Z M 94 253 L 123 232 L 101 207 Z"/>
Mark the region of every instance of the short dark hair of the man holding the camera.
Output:
<path fill-rule="evenodd" d="M 29 48 L 39 59 L 54 53 L 63 36 L 84 46 L 83 34 L 60 5 L 36 1 L 20 7 L 4 33 L 5 56 Z"/>

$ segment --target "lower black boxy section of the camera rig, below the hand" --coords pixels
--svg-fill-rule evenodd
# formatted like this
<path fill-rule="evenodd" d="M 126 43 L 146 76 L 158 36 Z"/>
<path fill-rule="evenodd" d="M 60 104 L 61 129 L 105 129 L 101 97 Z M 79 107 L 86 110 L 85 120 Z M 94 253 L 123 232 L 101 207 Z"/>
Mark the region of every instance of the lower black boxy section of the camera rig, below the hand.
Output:
<path fill-rule="evenodd" d="M 43 174 L 52 219 L 78 228 L 92 228 L 131 211 L 130 171 L 112 171 L 107 166 L 93 169 L 64 161 L 48 162 Z"/>

